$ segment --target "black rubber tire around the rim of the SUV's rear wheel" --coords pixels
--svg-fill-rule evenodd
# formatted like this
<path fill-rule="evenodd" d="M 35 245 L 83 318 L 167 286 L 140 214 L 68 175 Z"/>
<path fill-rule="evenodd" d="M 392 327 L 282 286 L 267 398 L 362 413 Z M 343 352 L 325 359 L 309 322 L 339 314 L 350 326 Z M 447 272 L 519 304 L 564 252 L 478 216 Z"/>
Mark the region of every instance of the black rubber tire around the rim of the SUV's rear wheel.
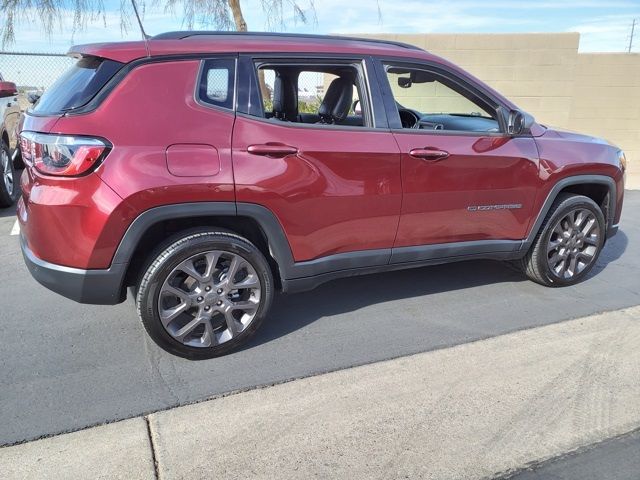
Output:
<path fill-rule="evenodd" d="M 197 258 L 199 254 L 211 251 L 222 251 L 225 252 L 224 255 L 228 254 L 231 257 L 240 257 L 241 260 L 247 262 L 244 265 L 248 264 L 253 268 L 260 283 L 259 288 L 256 288 L 256 293 L 259 292 L 259 306 L 257 310 L 254 309 L 255 315 L 244 330 L 224 341 L 224 343 L 211 346 L 185 345 L 174 338 L 167 330 L 169 327 L 165 328 L 162 323 L 160 318 L 161 306 L 159 303 L 160 291 L 165 284 L 165 280 L 172 275 L 172 272 L 175 272 L 175 269 L 178 268 L 179 265 L 193 257 Z M 222 258 L 222 256 L 219 258 Z M 218 262 L 218 260 L 212 263 L 215 265 L 216 262 Z M 218 263 L 217 265 L 222 265 L 222 263 Z M 249 267 L 247 266 L 247 268 Z M 220 230 L 206 230 L 185 232 L 180 235 L 180 238 L 175 239 L 167 248 L 163 249 L 151 261 L 137 285 L 136 290 L 138 315 L 153 341 L 174 355 L 198 360 L 225 355 L 251 338 L 269 311 L 273 299 L 274 283 L 267 260 L 260 250 L 251 242 L 234 233 Z M 250 294 L 253 295 L 253 293 L 254 292 L 251 292 Z M 197 305 L 193 308 L 200 307 L 202 307 L 202 305 Z M 190 314 L 184 313 L 180 315 Z M 207 325 L 208 327 L 213 323 L 213 320 L 210 320 L 210 322 L 211 323 Z M 229 329 L 229 331 L 231 331 L 231 329 Z"/>

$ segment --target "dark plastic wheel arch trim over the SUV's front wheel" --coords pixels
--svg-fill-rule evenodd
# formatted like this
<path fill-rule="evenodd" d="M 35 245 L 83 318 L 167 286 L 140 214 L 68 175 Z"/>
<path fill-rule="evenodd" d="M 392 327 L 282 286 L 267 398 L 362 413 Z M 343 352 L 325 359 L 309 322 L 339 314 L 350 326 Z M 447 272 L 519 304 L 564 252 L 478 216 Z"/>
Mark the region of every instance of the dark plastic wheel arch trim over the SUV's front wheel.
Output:
<path fill-rule="evenodd" d="M 544 219 L 549 213 L 549 209 L 561 193 L 584 195 L 595 201 L 602 209 L 607 224 L 607 233 L 611 231 L 617 199 L 615 180 L 607 175 L 575 175 L 565 177 L 556 182 L 551 188 L 529 231 L 529 235 L 523 242 L 523 250 L 528 250 L 533 244 Z"/>

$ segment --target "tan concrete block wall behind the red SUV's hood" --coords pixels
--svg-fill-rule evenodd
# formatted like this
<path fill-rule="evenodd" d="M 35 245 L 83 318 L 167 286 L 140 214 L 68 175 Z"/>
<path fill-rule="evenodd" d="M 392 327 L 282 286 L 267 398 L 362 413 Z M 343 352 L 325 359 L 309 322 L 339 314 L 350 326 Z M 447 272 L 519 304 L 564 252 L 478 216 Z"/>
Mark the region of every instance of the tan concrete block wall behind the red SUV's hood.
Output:
<path fill-rule="evenodd" d="M 358 36 L 424 48 L 491 85 L 540 123 L 615 143 L 627 155 L 628 179 L 640 187 L 640 54 L 579 53 L 578 33 Z"/>

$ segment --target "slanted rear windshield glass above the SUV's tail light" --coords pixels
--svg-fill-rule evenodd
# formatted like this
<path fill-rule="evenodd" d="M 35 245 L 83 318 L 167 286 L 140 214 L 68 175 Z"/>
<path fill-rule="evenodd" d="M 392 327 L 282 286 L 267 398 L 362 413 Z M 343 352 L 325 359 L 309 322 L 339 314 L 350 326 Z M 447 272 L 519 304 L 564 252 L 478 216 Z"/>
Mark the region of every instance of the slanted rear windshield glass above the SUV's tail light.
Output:
<path fill-rule="evenodd" d="M 104 58 L 82 57 L 44 92 L 32 111 L 56 114 L 86 105 L 123 65 Z"/>

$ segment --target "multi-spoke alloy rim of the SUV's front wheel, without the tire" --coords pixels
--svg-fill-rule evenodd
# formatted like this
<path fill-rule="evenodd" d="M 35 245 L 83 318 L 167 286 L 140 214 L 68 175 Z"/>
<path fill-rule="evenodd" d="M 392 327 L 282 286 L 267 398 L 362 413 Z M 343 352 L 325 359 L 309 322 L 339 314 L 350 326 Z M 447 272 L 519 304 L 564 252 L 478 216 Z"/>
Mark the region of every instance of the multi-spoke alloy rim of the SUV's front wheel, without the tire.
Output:
<path fill-rule="evenodd" d="M 547 263 L 558 278 L 569 280 L 596 258 L 600 227 L 595 214 L 585 208 L 571 210 L 554 225 L 547 244 Z"/>

